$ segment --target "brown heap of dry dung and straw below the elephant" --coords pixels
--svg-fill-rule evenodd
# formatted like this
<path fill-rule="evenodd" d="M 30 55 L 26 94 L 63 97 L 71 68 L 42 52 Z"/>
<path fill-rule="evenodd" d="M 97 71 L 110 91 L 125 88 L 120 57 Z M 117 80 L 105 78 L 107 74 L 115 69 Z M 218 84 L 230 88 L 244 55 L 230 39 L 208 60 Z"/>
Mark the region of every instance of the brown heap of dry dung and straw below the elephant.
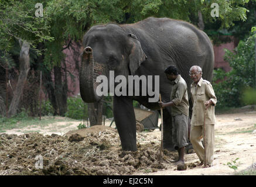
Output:
<path fill-rule="evenodd" d="M 116 130 L 90 128 L 68 136 L 0 134 L 0 175 L 132 175 L 170 169 L 178 157 L 165 151 L 159 162 L 160 142 L 148 140 L 146 133 L 138 133 L 138 151 L 131 152 L 121 150 Z M 42 168 L 36 167 L 38 155 Z"/>

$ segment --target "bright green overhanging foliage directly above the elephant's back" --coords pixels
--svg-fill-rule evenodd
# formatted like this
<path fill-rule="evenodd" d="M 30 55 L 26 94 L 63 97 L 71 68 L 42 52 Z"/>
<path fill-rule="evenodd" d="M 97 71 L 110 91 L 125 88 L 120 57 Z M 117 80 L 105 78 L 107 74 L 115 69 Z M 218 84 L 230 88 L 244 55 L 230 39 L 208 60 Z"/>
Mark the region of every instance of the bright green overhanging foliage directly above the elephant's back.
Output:
<path fill-rule="evenodd" d="M 125 1 L 125 11 L 129 14 L 127 22 L 137 22 L 149 16 L 158 18 L 168 17 L 173 19 L 182 19 L 188 22 L 198 23 L 198 11 L 202 12 L 204 22 L 213 23 L 216 20 L 221 21 L 221 27 L 230 27 L 234 25 L 235 20 L 246 20 L 247 9 L 244 7 L 249 0 L 136 0 Z M 219 17 L 211 17 L 211 4 L 219 5 Z M 125 4 L 125 3 L 124 3 Z"/>

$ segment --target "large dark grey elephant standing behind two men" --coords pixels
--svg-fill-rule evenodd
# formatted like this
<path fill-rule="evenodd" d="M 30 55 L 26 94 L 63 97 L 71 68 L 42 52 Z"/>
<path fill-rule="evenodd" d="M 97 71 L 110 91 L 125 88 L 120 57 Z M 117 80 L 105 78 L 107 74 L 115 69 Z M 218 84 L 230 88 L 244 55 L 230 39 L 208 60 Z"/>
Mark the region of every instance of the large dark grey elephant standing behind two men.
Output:
<path fill-rule="evenodd" d="M 214 68 L 214 52 L 206 33 L 192 24 L 169 18 L 146 18 L 133 24 L 92 26 L 83 37 L 84 50 L 80 64 L 80 95 L 84 102 L 95 103 L 103 96 L 96 92 L 97 77 L 110 78 L 123 75 L 152 75 L 159 77 L 159 93 L 163 102 L 170 101 L 170 82 L 164 73 L 169 65 L 175 65 L 187 83 L 189 101 L 189 69 L 199 65 L 203 78 L 211 81 Z M 108 79 L 110 81 L 110 79 Z M 117 82 L 114 83 L 117 86 Z M 155 88 L 153 86 L 153 88 Z M 108 92 L 110 88 L 108 88 Z M 133 101 L 148 109 L 160 110 L 158 102 L 149 102 L 146 95 L 113 95 L 113 115 L 123 151 L 136 151 L 136 119 Z M 190 105 L 191 108 L 191 105 Z M 171 109 L 163 109 L 163 148 L 174 151 L 172 140 Z"/>

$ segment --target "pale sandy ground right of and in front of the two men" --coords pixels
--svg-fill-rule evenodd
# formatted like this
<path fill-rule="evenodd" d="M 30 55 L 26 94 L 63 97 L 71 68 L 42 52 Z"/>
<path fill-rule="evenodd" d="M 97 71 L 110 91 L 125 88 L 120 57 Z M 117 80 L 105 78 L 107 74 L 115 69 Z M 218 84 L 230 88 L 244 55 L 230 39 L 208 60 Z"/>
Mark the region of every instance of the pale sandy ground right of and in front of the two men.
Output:
<path fill-rule="evenodd" d="M 187 168 L 186 171 L 176 171 L 176 167 L 172 167 L 143 175 L 232 175 L 234 170 L 224 165 L 227 162 L 239 158 L 237 164 L 234 164 L 238 167 L 237 172 L 256 162 L 256 111 L 216 115 L 216 120 L 212 167 Z M 152 134 L 159 136 L 156 131 Z M 188 164 L 196 161 L 199 161 L 196 154 L 185 155 L 185 162 Z M 136 173 L 140 174 L 142 173 Z"/>

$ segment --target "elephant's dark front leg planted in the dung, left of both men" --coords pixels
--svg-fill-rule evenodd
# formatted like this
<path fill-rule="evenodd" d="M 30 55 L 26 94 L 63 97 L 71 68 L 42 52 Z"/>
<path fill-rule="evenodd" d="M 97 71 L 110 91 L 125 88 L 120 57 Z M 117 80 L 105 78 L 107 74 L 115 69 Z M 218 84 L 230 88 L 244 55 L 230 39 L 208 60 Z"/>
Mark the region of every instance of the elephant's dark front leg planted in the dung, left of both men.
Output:
<path fill-rule="evenodd" d="M 136 151 L 136 119 L 132 99 L 114 96 L 113 113 L 123 151 Z"/>

